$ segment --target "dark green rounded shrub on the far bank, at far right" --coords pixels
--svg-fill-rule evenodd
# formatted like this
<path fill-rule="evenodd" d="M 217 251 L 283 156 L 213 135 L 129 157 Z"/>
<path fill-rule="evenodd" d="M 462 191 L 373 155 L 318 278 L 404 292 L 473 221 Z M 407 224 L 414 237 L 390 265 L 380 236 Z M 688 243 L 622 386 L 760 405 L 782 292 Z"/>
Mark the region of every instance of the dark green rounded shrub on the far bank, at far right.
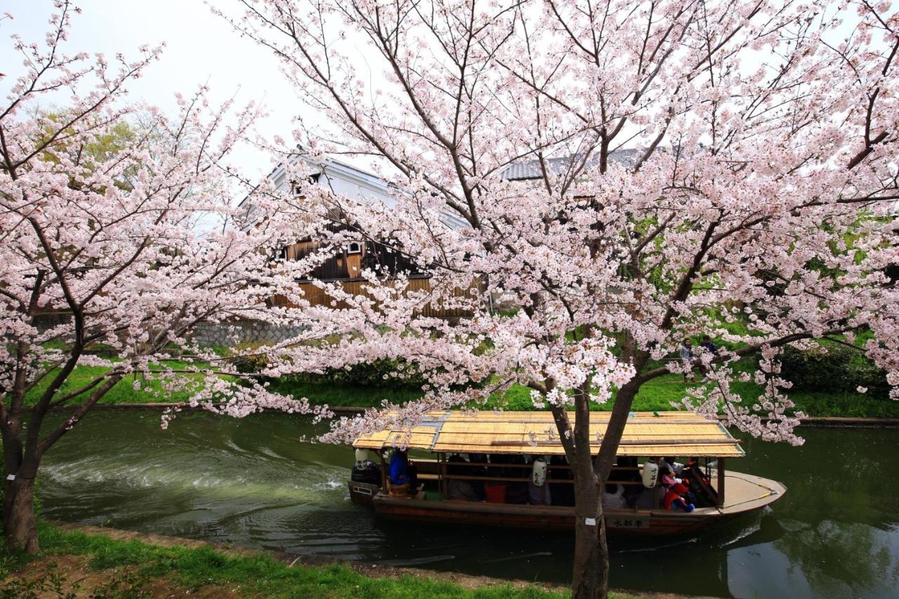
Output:
<path fill-rule="evenodd" d="M 783 353 L 781 374 L 793 383 L 793 389 L 855 392 L 866 387 L 869 395 L 886 397 L 886 371 L 858 350 L 839 344 L 826 344 L 825 348 L 799 351 L 788 347 Z"/>

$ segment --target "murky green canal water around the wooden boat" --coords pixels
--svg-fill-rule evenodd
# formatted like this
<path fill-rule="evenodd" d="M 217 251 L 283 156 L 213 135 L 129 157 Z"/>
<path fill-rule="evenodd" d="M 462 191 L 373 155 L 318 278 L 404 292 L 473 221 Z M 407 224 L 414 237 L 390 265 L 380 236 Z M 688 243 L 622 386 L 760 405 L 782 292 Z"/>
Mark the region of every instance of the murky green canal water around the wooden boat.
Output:
<path fill-rule="evenodd" d="M 565 533 L 388 523 L 352 505 L 352 449 L 302 443 L 279 414 L 243 420 L 103 411 L 49 451 L 44 515 L 390 566 L 570 582 Z M 804 429 L 801 448 L 744 443 L 730 467 L 788 487 L 699 537 L 611 541 L 611 585 L 736 597 L 899 596 L 899 431 Z"/>

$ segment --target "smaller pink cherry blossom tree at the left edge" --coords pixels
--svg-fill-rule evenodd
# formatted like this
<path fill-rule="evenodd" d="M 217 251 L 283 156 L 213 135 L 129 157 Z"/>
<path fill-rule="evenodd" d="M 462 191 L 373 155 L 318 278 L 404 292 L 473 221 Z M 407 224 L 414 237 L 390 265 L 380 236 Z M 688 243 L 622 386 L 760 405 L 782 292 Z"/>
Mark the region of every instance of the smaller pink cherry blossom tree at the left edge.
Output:
<path fill-rule="evenodd" d="M 302 322 L 297 273 L 269 262 L 313 219 L 281 219 L 262 197 L 267 218 L 247 227 L 231 206 L 236 179 L 223 160 L 258 110 L 214 107 L 204 89 L 179 97 L 170 115 L 126 103 L 129 81 L 159 49 L 141 49 L 134 61 L 67 55 L 77 9 L 56 6 L 45 43 L 13 36 L 24 73 L 0 108 L 3 523 L 7 544 L 28 552 L 39 549 L 32 496 L 40 460 L 129 374 L 135 389 L 155 380 L 149 387 L 162 396 L 186 389 L 192 405 L 232 416 L 269 407 L 325 414 L 236 382 L 228 362 L 190 339 L 200 323 Z M 294 307 L 267 307 L 272 286 Z M 321 331 L 305 330 L 292 341 Z M 115 359 L 98 357 L 99 348 Z M 165 362 L 173 350 L 181 367 Z M 84 365 L 105 370 L 72 383 Z"/>

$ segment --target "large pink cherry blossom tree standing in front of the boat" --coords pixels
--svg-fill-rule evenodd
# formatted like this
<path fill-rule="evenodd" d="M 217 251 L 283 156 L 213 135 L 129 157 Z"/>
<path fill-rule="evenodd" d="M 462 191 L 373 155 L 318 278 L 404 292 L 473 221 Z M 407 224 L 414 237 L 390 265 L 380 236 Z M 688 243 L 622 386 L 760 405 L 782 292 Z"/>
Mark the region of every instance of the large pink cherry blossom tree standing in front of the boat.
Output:
<path fill-rule="evenodd" d="M 868 332 L 899 398 L 889 3 L 240 4 L 224 16 L 322 115 L 298 139 L 378 156 L 396 203 L 307 201 L 432 276 L 411 292 L 402 273 L 366 273 L 365 297 L 320 283 L 352 326 L 277 368 L 389 357 L 426 376 L 423 399 L 343 418 L 334 442 L 527 385 L 574 471 L 574 596 L 607 595 L 605 527 L 590 523 L 637 391 L 693 367 L 663 362 L 684 337 L 732 348 L 699 353 L 708 382 L 686 407 L 768 440 L 801 443 L 787 345 Z M 484 291 L 458 293 L 474 281 Z M 450 326 L 422 316 L 428 302 L 473 316 Z M 743 401 L 740 378 L 761 396 Z M 614 402 L 604 430 L 591 402 Z"/>

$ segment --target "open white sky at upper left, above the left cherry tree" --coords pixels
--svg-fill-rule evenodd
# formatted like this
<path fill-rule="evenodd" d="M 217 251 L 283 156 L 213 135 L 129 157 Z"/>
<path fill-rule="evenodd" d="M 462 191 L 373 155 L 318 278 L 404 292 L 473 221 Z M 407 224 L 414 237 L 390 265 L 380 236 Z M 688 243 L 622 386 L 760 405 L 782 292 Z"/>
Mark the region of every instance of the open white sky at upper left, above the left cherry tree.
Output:
<path fill-rule="evenodd" d="M 235 9 L 233 0 L 209 0 Z M 191 94 L 209 83 L 213 100 L 237 94 L 237 104 L 263 102 L 269 116 L 257 125 L 267 138 L 275 134 L 289 139 L 291 120 L 308 109 L 296 100 L 281 76 L 278 61 L 253 40 L 239 37 L 223 19 L 209 11 L 203 0 L 76 0 L 83 13 L 73 15 L 67 53 L 103 52 L 112 60 L 117 52 L 138 58 L 138 46 L 165 41 L 162 58 L 144 76 L 129 85 L 130 97 L 174 108 L 174 94 Z M 51 0 L 0 0 L 0 13 L 13 21 L 0 22 L 0 95 L 5 97 L 15 77 L 22 74 L 22 57 L 12 49 L 9 36 L 42 43 L 54 12 Z M 309 115 L 304 114 L 308 120 Z M 258 179 L 271 170 L 269 156 L 254 148 L 239 148 L 234 162 L 248 176 Z"/>

